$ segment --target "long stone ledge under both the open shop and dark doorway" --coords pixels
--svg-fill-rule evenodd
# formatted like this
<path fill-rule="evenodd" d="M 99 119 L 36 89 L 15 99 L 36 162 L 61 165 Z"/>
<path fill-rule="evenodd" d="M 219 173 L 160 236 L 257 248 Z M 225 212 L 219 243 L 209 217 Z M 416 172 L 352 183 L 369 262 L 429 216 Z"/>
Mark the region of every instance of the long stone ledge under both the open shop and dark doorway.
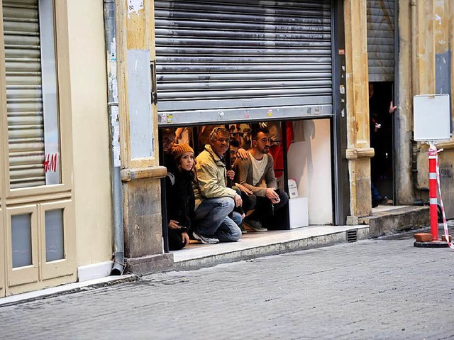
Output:
<path fill-rule="evenodd" d="M 428 225 L 428 207 L 380 205 L 358 226 L 306 226 L 298 229 L 248 232 L 233 243 L 201 244 L 192 241 L 174 251 L 175 270 L 210 267 L 218 263 L 248 260 L 336 243 L 358 241 Z"/>

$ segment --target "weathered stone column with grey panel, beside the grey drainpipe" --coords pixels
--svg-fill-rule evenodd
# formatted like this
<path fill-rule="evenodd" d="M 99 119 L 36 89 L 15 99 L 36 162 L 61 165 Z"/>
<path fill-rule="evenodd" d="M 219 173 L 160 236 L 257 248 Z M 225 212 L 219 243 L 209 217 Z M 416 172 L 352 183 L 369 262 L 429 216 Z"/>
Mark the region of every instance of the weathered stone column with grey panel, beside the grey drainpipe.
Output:
<path fill-rule="evenodd" d="M 118 104 L 126 269 L 138 275 L 172 268 L 162 251 L 153 0 L 116 0 Z"/>

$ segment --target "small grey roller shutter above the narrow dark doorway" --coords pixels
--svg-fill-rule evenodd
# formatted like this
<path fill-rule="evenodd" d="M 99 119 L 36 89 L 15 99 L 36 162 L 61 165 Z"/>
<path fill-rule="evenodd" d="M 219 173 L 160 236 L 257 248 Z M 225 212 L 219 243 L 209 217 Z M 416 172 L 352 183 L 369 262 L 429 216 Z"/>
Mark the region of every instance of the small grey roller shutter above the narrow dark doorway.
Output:
<path fill-rule="evenodd" d="M 367 0 L 369 81 L 394 81 L 394 0 Z"/>

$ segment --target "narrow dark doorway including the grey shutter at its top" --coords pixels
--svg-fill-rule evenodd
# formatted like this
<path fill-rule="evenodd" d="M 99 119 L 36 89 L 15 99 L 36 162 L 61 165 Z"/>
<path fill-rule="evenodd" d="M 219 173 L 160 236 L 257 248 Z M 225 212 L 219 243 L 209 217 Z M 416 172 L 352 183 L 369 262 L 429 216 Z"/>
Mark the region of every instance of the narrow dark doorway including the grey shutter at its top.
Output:
<path fill-rule="evenodd" d="M 397 1 L 367 1 L 367 55 L 369 64 L 370 143 L 375 149 L 371 159 L 371 180 L 380 196 L 395 203 L 394 139 L 398 111 L 396 27 Z M 373 93 L 373 94 L 371 94 Z"/>

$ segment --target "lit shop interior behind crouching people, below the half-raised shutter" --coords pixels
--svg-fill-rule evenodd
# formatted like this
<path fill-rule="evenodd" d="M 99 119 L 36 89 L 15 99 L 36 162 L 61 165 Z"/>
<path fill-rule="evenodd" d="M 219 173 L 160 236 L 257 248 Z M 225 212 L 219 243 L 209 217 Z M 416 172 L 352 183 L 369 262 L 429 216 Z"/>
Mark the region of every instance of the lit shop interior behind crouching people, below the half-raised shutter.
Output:
<path fill-rule="evenodd" d="M 282 224 L 277 229 L 297 229 L 310 225 L 333 224 L 333 187 L 332 187 L 332 143 L 330 119 L 301 119 L 294 121 L 267 121 L 263 123 L 243 122 L 222 125 L 230 131 L 231 150 L 225 156 L 226 163 L 234 160 L 237 148 L 248 150 L 251 147 L 251 131 L 254 124 L 266 126 L 270 131 L 272 146 L 270 155 L 275 163 L 275 176 L 278 187 L 289 194 L 289 204 L 283 215 Z M 174 143 L 187 143 L 193 149 L 195 156 L 199 155 L 208 143 L 209 135 L 214 127 L 204 126 L 172 126 L 175 131 Z M 167 128 L 167 127 L 166 127 Z M 160 128 L 160 160 L 163 152 L 162 130 Z M 168 131 L 167 131 L 168 133 Z M 162 180 L 162 185 L 165 181 Z M 162 188 L 165 192 L 165 188 Z M 164 212 L 165 197 L 162 197 Z M 167 221 L 162 214 L 162 231 L 167 234 Z M 242 238 L 254 237 L 253 233 L 243 234 Z M 266 235 L 261 235 L 265 236 Z M 189 247 L 200 243 L 191 241 Z M 166 244 L 164 242 L 164 249 Z"/>

